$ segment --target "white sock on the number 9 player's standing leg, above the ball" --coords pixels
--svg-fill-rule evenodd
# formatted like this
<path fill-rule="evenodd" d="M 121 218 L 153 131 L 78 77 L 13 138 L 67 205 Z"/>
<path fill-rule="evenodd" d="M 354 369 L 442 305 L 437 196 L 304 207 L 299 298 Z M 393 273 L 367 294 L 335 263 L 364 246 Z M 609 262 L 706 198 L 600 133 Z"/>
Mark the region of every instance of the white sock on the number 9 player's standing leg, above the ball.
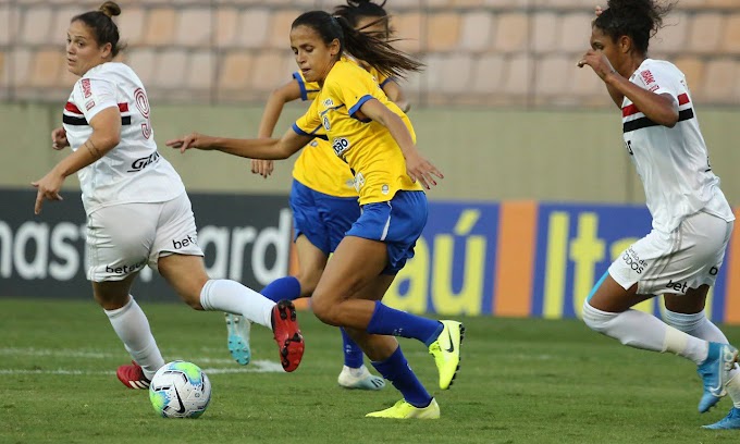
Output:
<path fill-rule="evenodd" d="M 149 329 L 149 320 L 133 296 L 115 310 L 103 310 L 132 358 L 141 366 L 144 375 L 151 381 L 157 370 L 164 366 L 162 354 Z"/>

